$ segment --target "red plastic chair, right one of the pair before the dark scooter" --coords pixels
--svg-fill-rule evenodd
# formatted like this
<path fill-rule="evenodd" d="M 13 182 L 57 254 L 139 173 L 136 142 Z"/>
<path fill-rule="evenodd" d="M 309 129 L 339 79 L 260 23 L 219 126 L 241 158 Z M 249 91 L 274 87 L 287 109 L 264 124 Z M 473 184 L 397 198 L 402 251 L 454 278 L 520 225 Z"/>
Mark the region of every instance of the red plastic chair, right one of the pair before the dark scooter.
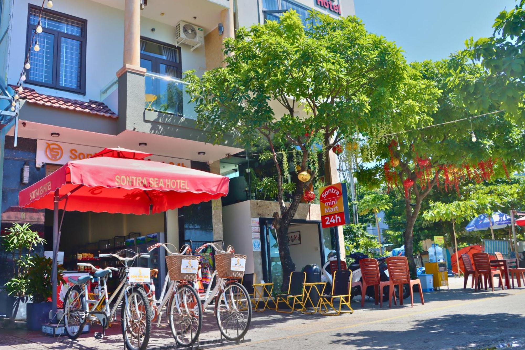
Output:
<path fill-rule="evenodd" d="M 395 296 L 395 285 L 399 286 L 400 305 L 403 305 L 403 284 L 409 285 L 410 303 L 412 304 L 412 307 L 414 307 L 413 286 L 416 284 L 419 285 L 419 297 L 421 297 L 421 304 L 425 304 L 421 281 L 419 281 L 419 279 L 410 279 L 410 271 L 408 270 L 408 260 L 406 259 L 406 256 L 391 256 L 390 258 L 386 258 L 386 267 L 388 269 L 388 275 L 390 276 L 390 297 L 388 297 L 388 307 L 392 307 L 392 296 Z"/>

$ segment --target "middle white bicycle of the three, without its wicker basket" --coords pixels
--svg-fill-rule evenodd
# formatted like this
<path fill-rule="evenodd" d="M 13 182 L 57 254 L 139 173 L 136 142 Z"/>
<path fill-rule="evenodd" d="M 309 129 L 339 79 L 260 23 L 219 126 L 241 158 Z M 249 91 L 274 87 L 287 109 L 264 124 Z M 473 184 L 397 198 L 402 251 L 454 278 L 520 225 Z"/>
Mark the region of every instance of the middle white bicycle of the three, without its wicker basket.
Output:
<path fill-rule="evenodd" d="M 189 245 L 184 245 L 180 253 L 174 253 L 167 248 L 167 244 L 153 244 L 148 247 L 148 252 L 160 246 L 162 246 L 170 256 L 185 255 L 188 250 L 191 251 Z M 196 266 L 197 262 L 195 262 L 195 267 Z M 164 307 L 166 307 L 166 322 L 169 324 L 177 344 L 183 347 L 192 346 L 197 341 L 199 334 L 201 334 L 202 327 L 201 301 L 190 283 L 191 282 L 184 280 L 172 281 L 170 280 L 170 274 L 166 274 L 159 300 L 155 297 L 155 285 L 153 281 L 144 285 L 152 309 L 152 321 L 156 320 L 157 326 L 159 327 L 162 314 L 164 313 Z"/>

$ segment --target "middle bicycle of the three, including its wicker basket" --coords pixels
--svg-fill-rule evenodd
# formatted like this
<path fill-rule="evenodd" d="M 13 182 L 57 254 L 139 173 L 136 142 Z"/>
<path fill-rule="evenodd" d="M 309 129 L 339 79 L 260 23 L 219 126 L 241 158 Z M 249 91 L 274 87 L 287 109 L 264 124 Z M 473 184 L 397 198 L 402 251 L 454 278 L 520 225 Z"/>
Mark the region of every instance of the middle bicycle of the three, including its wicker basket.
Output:
<path fill-rule="evenodd" d="M 170 243 L 156 243 L 148 247 L 148 252 L 162 246 L 166 255 L 167 275 L 160 299 L 155 297 L 153 281 L 145 285 L 148 300 L 152 309 L 152 322 L 157 321 L 160 326 L 164 307 L 166 307 L 166 322 L 178 345 L 192 346 L 198 339 L 202 327 L 201 300 L 192 286 L 197 279 L 198 256 L 186 255 L 190 251 L 189 245 L 183 245 L 180 252 L 172 252 L 167 245 Z"/>

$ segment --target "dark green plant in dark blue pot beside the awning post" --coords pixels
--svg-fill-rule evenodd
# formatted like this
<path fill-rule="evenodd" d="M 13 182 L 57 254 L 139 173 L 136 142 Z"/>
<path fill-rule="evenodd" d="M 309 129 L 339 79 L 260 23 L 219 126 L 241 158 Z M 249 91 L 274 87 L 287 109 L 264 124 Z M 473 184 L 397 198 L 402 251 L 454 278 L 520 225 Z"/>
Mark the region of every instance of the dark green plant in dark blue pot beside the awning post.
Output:
<path fill-rule="evenodd" d="M 42 324 L 49 320 L 49 311 L 53 305 L 49 299 L 53 284 L 51 283 L 51 271 L 53 260 L 44 256 L 35 256 L 33 266 L 27 272 L 27 292 L 31 295 L 32 303 L 27 304 L 27 329 L 37 331 Z M 57 270 L 58 285 L 65 283 L 62 277 L 63 270 L 60 265 Z"/>

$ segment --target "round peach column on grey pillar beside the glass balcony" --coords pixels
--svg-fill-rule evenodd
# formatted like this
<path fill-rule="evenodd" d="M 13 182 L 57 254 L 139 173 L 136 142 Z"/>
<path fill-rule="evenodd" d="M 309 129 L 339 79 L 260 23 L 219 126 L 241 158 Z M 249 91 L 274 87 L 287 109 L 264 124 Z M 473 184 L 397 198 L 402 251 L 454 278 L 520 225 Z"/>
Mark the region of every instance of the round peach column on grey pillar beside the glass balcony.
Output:
<path fill-rule="evenodd" d="M 117 72 L 120 77 L 125 71 L 146 73 L 140 68 L 140 1 L 125 0 L 124 3 L 124 60 Z"/>

